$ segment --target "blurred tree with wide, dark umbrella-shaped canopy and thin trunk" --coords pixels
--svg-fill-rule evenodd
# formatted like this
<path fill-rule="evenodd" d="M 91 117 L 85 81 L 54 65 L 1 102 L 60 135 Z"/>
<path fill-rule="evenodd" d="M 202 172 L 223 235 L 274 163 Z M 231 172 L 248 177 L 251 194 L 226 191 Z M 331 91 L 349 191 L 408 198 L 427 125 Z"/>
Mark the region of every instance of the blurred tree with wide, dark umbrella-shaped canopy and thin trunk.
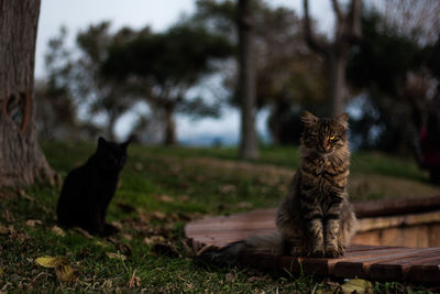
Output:
<path fill-rule="evenodd" d="M 113 80 L 125 80 L 161 111 L 165 124 L 164 143 L 175 144 L 176 112 L 218 115 L 218 105 L 188 98 L 187 91 L 212 73 L 212 61 L 230 54 L 231 46 L 224 37 L 180 23 L 164 33 L 141 34 L 130 42 L 113 44 L 101 72 Z"/>

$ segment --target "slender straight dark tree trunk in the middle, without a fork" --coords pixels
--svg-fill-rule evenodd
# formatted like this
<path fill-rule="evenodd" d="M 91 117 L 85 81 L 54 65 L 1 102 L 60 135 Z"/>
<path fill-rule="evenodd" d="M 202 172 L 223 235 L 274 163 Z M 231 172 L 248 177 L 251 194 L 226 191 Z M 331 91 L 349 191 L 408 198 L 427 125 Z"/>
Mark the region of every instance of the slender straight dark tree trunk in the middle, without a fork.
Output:
<path fill-rule="evenodd" d="M 258 156 L 255 132 L 255 69 L 253 66 L 253 23 L 251 0 L 238 2 L 239 29 L 239 85 L 241 99 L 240 157 L 244 160 Z"/>

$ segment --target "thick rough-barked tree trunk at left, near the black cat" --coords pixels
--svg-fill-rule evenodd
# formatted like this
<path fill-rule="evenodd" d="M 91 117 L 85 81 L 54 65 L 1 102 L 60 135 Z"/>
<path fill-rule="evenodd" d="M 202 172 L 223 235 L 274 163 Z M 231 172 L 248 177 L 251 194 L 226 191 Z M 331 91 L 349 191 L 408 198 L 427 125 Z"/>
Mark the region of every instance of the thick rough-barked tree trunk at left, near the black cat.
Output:
<path fill-rule="evenodd" d="M 36 139 L 33 99 L 40 0 L 0 1 L 0 187 L 55 183 Z"/>

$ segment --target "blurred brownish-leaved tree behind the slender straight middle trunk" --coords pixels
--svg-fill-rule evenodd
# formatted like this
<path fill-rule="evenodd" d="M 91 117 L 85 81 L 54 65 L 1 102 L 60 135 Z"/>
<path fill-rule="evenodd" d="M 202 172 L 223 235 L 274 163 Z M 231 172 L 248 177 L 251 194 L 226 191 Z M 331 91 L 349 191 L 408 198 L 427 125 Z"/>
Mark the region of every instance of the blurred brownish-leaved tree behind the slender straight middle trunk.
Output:
<path fill-rule="evenodd" d="M 254 111 L 264 108 L 271 111 L 268 127 L 275 144 L 298 143 L 301 109 L 318 110 L 326 99 L 322 58 L 305 43 L 301 21 L 294 10 L 274 8 L 261 0 L 254 0 L 251 9 L 255 28 Z M 194 21 L 224 34 L 238 46 L 235 15 L 237 4 L 231 0 L 198 0 Z M 240 107 L 237 66 L 224 70 L 224 87 L 230 92 L 228 100 L 233 107 Z"/>

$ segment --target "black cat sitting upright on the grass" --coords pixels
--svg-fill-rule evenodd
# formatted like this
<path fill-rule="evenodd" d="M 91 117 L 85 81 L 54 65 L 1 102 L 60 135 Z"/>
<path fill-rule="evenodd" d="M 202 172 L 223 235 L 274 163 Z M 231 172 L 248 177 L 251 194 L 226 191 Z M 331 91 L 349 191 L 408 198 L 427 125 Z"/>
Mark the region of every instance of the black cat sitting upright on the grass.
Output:
<path fill-rule="evenodd" d="M 56 214 L 63 227 L 80 227 L 92 235 L 110 236 L 117 228 L 106 224 L 107 208 L 127 161 L 130 140 L 118 144 L 98 139 L 98 149 L 86 164 L 64 181 Z"/>

